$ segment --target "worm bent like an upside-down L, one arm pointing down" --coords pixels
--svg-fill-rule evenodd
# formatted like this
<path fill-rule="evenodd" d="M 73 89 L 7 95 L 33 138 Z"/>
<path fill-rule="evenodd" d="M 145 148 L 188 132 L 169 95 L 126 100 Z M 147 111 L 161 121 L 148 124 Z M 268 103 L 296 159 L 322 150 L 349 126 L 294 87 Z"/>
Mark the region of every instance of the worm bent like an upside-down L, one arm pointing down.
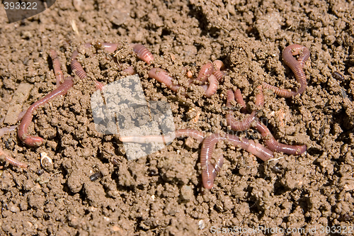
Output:
<path fill-rule="evenodd" d="M 202 142 L 202 150 L 200 152 L 200 166 L 202 167 L 202 184 L 205 189 L 212 189 L 215 180 L 216 171 L 215 166 L 211 164 L 212 153 L 215 151 L 215 145 L 221 140 L 228 140 L 234 146 L 239 146 L 242 149 L 254 154 L 256 157 L 262 159 L 264 162 L 273 158 L 273 152 L 268 150 L 259 143 L 255 143 L 253 140 L 241 138 L 235 135 L 220 135 L 212 134 L 205 137 Z"/>

